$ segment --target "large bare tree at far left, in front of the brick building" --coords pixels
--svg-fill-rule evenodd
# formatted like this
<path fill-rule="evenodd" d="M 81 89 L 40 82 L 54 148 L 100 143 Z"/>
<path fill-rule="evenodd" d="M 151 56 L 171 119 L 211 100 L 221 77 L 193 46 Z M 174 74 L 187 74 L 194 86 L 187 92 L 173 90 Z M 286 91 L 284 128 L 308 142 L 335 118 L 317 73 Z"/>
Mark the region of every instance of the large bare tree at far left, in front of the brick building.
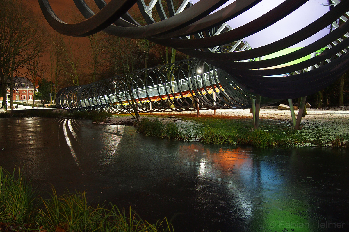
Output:
<path fill-rule="evenodd" d="M 29 61 L 42 52 L 38 40 L 40 20 L 23 1 L 0 1 L 0 79 L 2 95 L 6 96 L 7 83 L 13 82 L 14 72 L 26 67 Z M 10 86 L 13 91 L 13 86 Z M 3 97 L 2 105 L 7 106 Z"/>

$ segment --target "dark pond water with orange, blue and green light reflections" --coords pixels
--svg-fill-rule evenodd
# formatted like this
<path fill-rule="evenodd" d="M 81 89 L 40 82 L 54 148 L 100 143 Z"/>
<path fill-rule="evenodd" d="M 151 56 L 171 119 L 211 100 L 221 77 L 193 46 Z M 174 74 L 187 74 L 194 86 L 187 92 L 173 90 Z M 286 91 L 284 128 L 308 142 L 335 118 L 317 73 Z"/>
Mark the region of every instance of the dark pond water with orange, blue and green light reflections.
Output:
<path fill-rule="evenodd" d="M 204 146 L 43 118 L 0 119 L 0 137 L 0 165 L 25 164 L 38 189 L 87 190 L 150 221 L 176 215 L 176 231 L 349 231 L 344 150 Z"/>

